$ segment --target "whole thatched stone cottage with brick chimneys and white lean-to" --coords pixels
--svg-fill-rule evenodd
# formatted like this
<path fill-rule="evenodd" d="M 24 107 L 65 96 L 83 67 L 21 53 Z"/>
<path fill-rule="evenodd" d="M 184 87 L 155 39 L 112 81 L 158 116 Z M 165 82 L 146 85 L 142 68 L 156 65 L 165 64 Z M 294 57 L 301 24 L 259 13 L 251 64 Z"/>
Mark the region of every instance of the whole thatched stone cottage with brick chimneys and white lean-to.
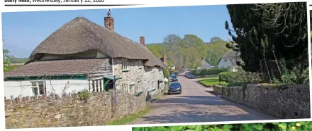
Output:
<path fill-rule="evenodd" d="M 52 33 L 25 65 L 4 75 L 5 96 L 121 89 L 130 94 L 164 87 L 165 64 L 145 46 L 114 32 L 108 12 L 104 27 L 78 17 Z M 115 86 L 114 86 L 115 85 Z"/>

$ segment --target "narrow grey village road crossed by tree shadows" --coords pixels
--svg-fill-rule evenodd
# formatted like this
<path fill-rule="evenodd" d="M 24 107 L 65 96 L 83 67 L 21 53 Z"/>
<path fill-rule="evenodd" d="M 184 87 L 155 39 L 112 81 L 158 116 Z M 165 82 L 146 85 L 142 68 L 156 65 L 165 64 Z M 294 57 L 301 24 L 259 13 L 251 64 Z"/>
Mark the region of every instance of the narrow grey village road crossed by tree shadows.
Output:
<path fill-rule="evenodd" d="M 212 89 L 200 85 L 196 79 L 179 76 L 179 82 L 182 84 L 182 94 L 172 94 L 165 96 L 164 99 L 153 101 L 152 111 L 130 124 L 276 119 L 246 106 L 221 99 L 209 93 L 208 91 Z"/>

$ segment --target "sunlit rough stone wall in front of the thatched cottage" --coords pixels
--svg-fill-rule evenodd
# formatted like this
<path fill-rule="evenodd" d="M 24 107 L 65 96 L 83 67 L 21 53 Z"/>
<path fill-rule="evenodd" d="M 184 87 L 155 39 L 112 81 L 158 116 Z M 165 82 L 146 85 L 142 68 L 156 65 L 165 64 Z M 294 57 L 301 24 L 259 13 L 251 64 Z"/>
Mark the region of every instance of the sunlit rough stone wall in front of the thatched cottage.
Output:
<path fill-rule="evenodd" d="M 77 94 L 6 99 L 6 128 L 105 125 L 145 107 L 144 95 L 118 91 L 96 92 L 87 101 Z"/>

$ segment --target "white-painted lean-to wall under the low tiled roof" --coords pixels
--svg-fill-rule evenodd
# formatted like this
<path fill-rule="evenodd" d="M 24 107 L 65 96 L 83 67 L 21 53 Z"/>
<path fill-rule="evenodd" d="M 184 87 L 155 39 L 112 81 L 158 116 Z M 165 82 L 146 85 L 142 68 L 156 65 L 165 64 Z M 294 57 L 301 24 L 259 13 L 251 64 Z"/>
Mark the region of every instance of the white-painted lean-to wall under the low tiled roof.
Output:
<path fill-rule="evenodd" d="M 11 98 L 11 95 L 17 97 L 21 96 L 33 96 L 33 90 L 31 89 L 31 82 L 41 82 L 38 80 L 25 80 L 25 81 L 4 81 L 4 96 L 7 99 Z M 68 83 L 67 83 L 68 82 Z M 51 86 L 52 85 L 52 86 Z M 61 95 L 62 90 L 66 86 L 66 93 L 77 93 L 83 89 L 89 89 L 88 80 L 45 80 L 45 86 L 47 94 L 55 89 L 55 93 Z"/>

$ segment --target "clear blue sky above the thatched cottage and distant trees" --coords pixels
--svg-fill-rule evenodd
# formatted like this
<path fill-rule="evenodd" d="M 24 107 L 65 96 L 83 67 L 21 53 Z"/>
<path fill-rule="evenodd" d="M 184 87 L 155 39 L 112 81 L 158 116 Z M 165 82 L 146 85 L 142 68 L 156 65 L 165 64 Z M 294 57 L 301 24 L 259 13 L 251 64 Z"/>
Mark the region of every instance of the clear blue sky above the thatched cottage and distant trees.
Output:
<path fill-rule="evenodd" d="M 65 23 L 77 17 L 85 17 L 104 26 L 107 9 L 75 11 L 31 11 L 2 13 L 2 37 L 4 49 L 18 58 L 28 58 L 45 38 Z M 115 32 L 139 42 L 161 43 L 164 37 L 176 34 L 196 35 L 204 42 L 211 37 L 230 39 L 225 30 L 225 20 L 230 16 L 225 5 L 178 6 L 153 8 L 113 8 Z M 231 27 L 231 25 L 230 25 Z"/>

